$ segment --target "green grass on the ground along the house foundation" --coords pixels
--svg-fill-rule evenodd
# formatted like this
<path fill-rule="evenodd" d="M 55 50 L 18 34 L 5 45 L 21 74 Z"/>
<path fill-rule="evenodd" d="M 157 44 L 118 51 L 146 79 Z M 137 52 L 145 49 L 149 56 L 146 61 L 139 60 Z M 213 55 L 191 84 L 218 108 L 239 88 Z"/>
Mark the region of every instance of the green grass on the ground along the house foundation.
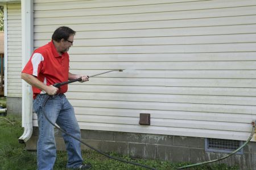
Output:
<path fill-rule="evenodd" d="M 23 134 L 23 128 L 21 128 L 21 120 L 15 116 L 7 116 L 11 122 L 15 122 L 14 125 L 10 124 L 6 120 L 0 119 L 0 170 L 32 170 L 36 169 L 36 154 L 35 152 L 29 152 L 24 150 L 24 145 L 18 143 L 18 138 Z M 157 169 L 176 169 L 181 165 L 187 165 L 188 163 L 170 163 L 159 160 L 145 160 L 145 159 L 132 159 L 129 156 L 118 155 L 116 153 L 110 153 L 110 155 L 119 157 L 125 160 L 141 163 L 154 167 Z M 102 170 L 134 170 L 144 169 L 141 167 L 135 167 L 131 164 L 125 164 L 117 162 L 112 159 L 108 159 L 105 156 L 98 154 L 95 151 L 83 151 L 82 156 L 85 163 L 92 164 L 93 169 Z M 55 163 L 55 170 L 65 169 L 67 163 L 67 154 L 64 151 L 57 152 L 57 159 Z M 228 167 L 225 164 L 211 164 L 203 165 L 191 169 L 198 170 L 235 170 L 238 167 Z"/>

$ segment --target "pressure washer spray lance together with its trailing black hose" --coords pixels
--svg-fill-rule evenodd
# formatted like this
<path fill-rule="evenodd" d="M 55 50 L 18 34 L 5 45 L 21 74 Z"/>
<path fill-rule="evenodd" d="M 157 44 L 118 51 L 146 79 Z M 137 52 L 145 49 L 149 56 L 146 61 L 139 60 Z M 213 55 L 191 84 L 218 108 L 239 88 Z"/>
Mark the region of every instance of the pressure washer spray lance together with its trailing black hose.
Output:
<path fill-rule="evenodd" d="M 104 72 L 104 73 L 99 73 L 99 74 L 91 75 L 91 76 L 89 76 L 89 78 L 90 78 L 90 77 L 97 76 L 97 75 L 101 75 L 101 74 L 110 73 L 110 72 L 112 72 L 112 71 L 123 71 L 123 70 L 110 70 L 110 71 L 106 71 L 106 72 Z M 81 78 L 73 79 L 73 80 L 68 80 L 67 82 L 55 83 L 55 84 L 53 84 L 53 86 L 59 88 L 59 87 L 65 85 L 65 84 L 69 84 L 69 83 L 73 83 L 73 82 L 78 82 L 78 81 L 81 81 L 81 80 L 82 80 Z M 98 152 L 98 153 L 100 153 L 100 154 L 102 154 L 102 155 L 104 155 L 104 156 L 106 156 L 106 157 L 108 157 L 108 158 L 110 158 L 110 159 L 118 160 L 118 161 L 123 162 L 123 163 L 128 163 L 128 164 L 137 165 L 137 166 L 139 166 L 139 167 L 143 167 L 143 168 L 147 168 L 147 169 L 151 169 L 151 170 L 156 170 L 155 168 L 148 167 L 147 165 L 142 165 L 142 164 L 139 164 L 139 163 L 129 162 L 129 161 L 127 161 L 127 160 L 120 159 L 120 158 L 115 158 L 115 157 L 113 157 L 113 156 L 110 156 L 110 155 L 108 155 L 108 154 L 105 154 L 104 152 L 102 152 L 102 151 L 100 151 L 100 150 L 97 150 L 96 148 L 94 148 L 94 147 L 88 145 L 87 143 L 85 143 L 84 141 L 81 141 L 81 139 L 76 138 L 76 137 L 73 136 L 72 134 L 69 134 L 67 131 L 65 131 L 65 130 L 59 128 L 58 126 L 56 126 L 55 124 L 53 124 L 53 122 L 51 122 L 51 120 L 49 120 L 49 118 L 46 116 L 46 114 L 45 114 L 45 112 L 44 112 L 44 106 L 46 105 L 47 101 L 48 101 L 50 98 L 51 98 L 51 96 L 48 95 L 47 99 L 44 101 L 44 103 L 43 103 L 43 105 L 42 105 L 42 107 L 43 107 L 43 115 L 44 115 L 44 117 L 46 117 L 46 120 L 47 120 L 51 125 L 53 125 L 56 129 L 62 131 L 63 133 L 65 133 L 65 134 L 69 135 L 70 137 L 76 139 L 77 141 L 79 141 L 80 143 L 84 144 L 85 146 L 91 148 L 92 150 L 94 150 L 94 151 L 96 151 L 96 152 Z"/>

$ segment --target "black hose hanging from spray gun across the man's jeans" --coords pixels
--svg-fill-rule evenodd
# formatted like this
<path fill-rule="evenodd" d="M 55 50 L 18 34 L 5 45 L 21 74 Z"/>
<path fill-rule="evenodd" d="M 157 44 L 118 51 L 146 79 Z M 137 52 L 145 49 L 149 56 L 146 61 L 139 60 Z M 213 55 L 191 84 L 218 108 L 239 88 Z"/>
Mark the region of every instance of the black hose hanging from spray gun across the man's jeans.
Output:
<path fill-rule="evenodd" d="M 102 151 L 100 151 L 100 150 L 97 150 L 96 148 L 94 148 L 94 147 L 88 145 L 87 143 L 81 141 L 79 138 L 74 137 L 72 134 L 67 133 L 67 131 L 65 131 L 65 130 L 59 128 L 59 127 L 57 127 L 55 124 L 53 124 L 53 122 L 51 122 L 51 121 L 49 120 L 49 118 L 48 118 L 48 117 L 46 116 L 46 114 L 44 113 L 44 106 L 46 105 L 46 103 L 47 103 L 47 101 L 50 99 L 50 97 L 51 97 L 51 96 L 48 95 L 48 97 L 46 98 L 46 100 L 44 101 L 44 103 L 43 103 L 43 105 L 42 105 L 42 107 L 43 107 L 43 115 L 44 115 L 44 117 L 46 117 L 47 121 L 48 121 L 50 124 L 52 124 L 55 128 L 59 129 L 59 130 L 62 131 L 63 133 L 65 133 L 65 134 L 69 135 L 70 137 L 76 139 L 77 141 L 81 142 L 81 143 L 84 144 L 85 146 L 91 148 L 92 150 L 94 150 L 94 151 L 96 151 L 96 152 L 98 152 L 98 153 L 100 153 L 100 154 L 102 154 L 102 155 L 104 155 L 104 156 L 106 156 L 106 157 L 108 157 L 108 158 L 110 158 L 110 159 L 118 160 L 118 161 L 120 161 L 120 162 L 127 163 L 127 164 L 137 165 L 137 166 L 139 166 L 139 167 L 143 167 L 143 168 L 147 168 L 147 169 L 151 169 L 151 170 L 157 170 L 157 169 L 155 169 L 155 168 L 148 167 L 147 165 L 142 165 L 142 164 L 139 164 L 139 163 L 129 162 L 129 161 L 127 161 L 127 160 L 115 158 L 115 157 L 113 157 L 113 156 L 110 156 L 110 155 L 108 155 L 108 154 L 105 154 L 104 152 L 102 152 Z"/>

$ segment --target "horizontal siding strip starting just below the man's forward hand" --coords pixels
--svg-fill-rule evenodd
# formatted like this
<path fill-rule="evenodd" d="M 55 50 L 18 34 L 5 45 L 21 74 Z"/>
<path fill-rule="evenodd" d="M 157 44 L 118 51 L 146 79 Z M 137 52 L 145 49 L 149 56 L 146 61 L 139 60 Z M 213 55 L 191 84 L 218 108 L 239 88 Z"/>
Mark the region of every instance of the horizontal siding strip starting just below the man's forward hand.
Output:
<path fill-rule="evenodd" d="M 113 86 L 167 87 L 240 87 L 256 88 L 255 79 L 157 79 L 157 78 L 93 78 L 86 84 Z"/>

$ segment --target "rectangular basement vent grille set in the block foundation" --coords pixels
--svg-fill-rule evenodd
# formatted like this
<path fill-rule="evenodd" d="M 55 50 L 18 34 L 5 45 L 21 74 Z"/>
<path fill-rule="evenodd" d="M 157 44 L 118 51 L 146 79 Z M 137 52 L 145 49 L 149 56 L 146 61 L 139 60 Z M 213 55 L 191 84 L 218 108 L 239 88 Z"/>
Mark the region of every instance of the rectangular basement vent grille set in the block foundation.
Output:
<path fill-rule="evenodd" d="M 231 153 L 242 145 L 243 145 L 242 141 L 236 141 L 236 140 L 214 139 L 214 138 L 205 139 L 205 151 L 210 151 L 210 152 Z M 236 154 L 243 154 L 243 149 L 238 151 Z"/>

